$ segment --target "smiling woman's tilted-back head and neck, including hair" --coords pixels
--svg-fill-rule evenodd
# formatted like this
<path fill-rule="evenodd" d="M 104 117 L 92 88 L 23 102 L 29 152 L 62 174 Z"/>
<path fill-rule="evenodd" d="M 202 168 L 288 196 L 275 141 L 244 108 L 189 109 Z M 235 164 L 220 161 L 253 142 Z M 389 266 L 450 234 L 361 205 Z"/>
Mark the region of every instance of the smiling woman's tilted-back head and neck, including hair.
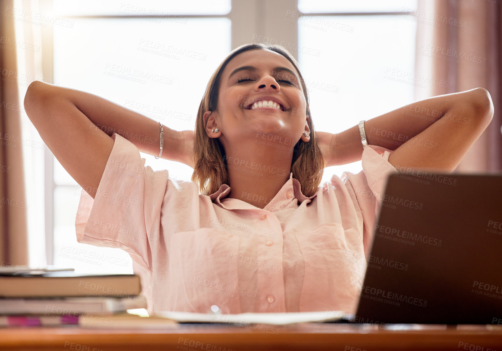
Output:
<path fill-rule="evenodd" d="M 263 103 L 249 109 L 260 101 L 276 101 L 281 109 Z M 228 198 L 252 193 L 262 199 L 254 205 L 263 208 L 292 172 L 304 194 L 312 196 L 325 161 L 308 104 L 305 81 L 287 50 L 262 43 L 233 50 L 212 75 L 199 106 L 192 181 L 204 195 L 232 184 Z M 270 166 L 278 171 L 265 172 L 257 181 L 253 173 L 240 170 L 242 160 L 258 171 Z"/>

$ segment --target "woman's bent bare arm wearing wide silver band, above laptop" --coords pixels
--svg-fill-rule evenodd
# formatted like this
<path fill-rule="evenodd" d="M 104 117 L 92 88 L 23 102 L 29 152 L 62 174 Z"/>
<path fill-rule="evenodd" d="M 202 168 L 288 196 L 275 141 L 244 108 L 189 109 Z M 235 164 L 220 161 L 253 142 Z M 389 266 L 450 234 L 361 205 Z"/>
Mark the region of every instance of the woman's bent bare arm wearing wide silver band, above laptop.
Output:
<path fill-rule="evenodd" d="M 367 120 L 364 130 L 369 145 L 394 150 L 389 162 L 397 169 L 452 172 L 492 117 L 490 94 L 478 87 L 406 105 Z M 329 148 L 328 166 L 361 159 L 363 148 L 357 125 L 332 134 L 329 145 L 325 146 Z"/>

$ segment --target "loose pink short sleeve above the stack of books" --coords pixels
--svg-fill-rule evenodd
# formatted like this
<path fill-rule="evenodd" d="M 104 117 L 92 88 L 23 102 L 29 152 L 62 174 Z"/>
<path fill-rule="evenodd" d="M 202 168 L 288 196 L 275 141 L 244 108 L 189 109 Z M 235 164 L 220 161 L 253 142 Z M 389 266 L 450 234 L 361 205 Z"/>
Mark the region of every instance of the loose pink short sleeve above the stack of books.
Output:
<path fill-rule="evenodd" d="M 159 227 L 169 172 L 145 167 L 138 148 L 114 133 L 94 199 L 82 189 L 75 220 L 80 243 L 120 248 L 152 270 L 149 237 Z"/>

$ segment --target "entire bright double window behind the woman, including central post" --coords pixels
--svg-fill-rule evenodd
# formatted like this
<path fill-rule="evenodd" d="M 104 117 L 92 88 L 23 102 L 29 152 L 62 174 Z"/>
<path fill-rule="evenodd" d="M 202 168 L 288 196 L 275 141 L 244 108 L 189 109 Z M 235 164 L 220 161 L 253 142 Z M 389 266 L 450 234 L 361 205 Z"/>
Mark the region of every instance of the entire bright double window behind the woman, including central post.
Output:
<path fill-rule="evenodd" d="M 194 129 L 214 69 L 249 42 L 278 43 L 297 58 L 317 130 L 346 130 L 413 102 L 419 89 L 387 71 L 413 76 L 416 24 L 408 12 L 416 9 L 416 0 L 289 0 L 274 2 L 267 12 L 261 0 L 53 4 L 54 15 L 67 22 L 53 26 L 53 52 L 44 55 L 54 74 L 47 79 L 176 130 Z M 148 78 L 137 79 L 135 70 Z M 132 273 L 126 252 L 77 243 L 81 189 L 48 149 L 46 155 L 47 263 L 80 273 Z M 193 169 L 184 164 L 141 157 L 155 170 L 169 169 L 172 178 L 190 180 Z M 322 182 L 360 170 L 360 161 L 329 167 Z M 127 266 L 114 263 L 124 260 Z"/>

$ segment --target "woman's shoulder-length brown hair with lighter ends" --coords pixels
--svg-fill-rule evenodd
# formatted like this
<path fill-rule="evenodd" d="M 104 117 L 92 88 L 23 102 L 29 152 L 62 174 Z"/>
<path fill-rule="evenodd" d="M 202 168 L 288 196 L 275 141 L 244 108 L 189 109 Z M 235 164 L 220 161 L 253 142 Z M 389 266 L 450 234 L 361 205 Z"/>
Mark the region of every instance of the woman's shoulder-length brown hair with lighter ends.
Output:
<path fill-rule="evenodd" d="M 192 174 L 192 182 L 199 184 L 199 189 L 202 195 L 211 195 L 215 193 L 222 184 L 230 186 L 225 150 L 218 138 L 210 138 L 206 134 L 204 119 L 202 116 L 206 111 L 215 111 L 217 108 L 221 74 L 228 62 L 230 62 L 230 60 L 236 55 L 244 51 L 256 49 L 268 49 L 280 53 L 293 64 L 299 73 L 307 105 L 306 116 L 308 116 L 310 140 L 308 142 L 304 142 L 300 139 L 296 143 L 293 149 L 291 171 L 293 172 L 293 178 L 300 182 L 302 193 L 307 197 L 313 196 L 321 183 L 326 162 L 317 145 L 317 136 L 314 130 L 312 118 L 310 116 L 308 92 L 303 76 L 298 68 L 298 62 L 284 47 L 277 44 L 252 43 L 237 47 L 230 52 L 230 54 L 228 54 L 223 62 L 220 63 L 209 79 L 206 91 L 204 92 L 204 96 L 200 102 L 197 119 L 195 121 L 193 148 L 194 171 Z"/>

